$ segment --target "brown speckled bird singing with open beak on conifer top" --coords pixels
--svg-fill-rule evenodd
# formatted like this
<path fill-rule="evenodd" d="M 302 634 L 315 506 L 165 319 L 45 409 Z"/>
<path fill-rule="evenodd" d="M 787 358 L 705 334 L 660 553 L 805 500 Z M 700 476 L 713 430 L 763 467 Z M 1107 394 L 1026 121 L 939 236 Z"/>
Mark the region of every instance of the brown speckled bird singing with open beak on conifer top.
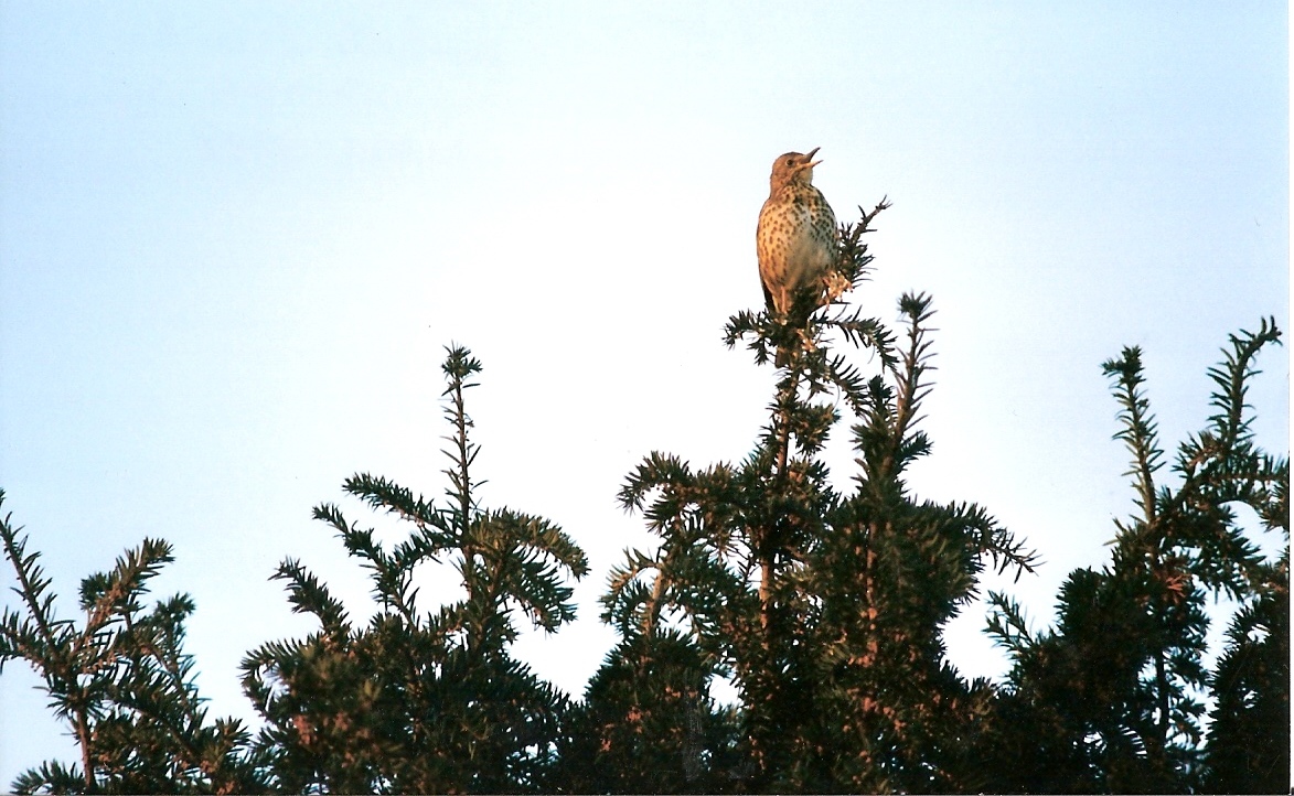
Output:
<path fill-rule="evenodd" d="M 769 313 L 783 320 L 796 320 L 791 311 L 802 306 L 797 302 L 802 293 L 814 293 L 809 313 L 818 309 L 823 277 L 831 271 L 840 247 L 836 213 L 813 185 L 813 167 L 822 163 L 813 159 L 819 149 L 807 155 L 787 152 L 773 162 L 769 198 L 754 231 L 763 300 Z M 778 364 L 783 359 L 779 351 Z"/>

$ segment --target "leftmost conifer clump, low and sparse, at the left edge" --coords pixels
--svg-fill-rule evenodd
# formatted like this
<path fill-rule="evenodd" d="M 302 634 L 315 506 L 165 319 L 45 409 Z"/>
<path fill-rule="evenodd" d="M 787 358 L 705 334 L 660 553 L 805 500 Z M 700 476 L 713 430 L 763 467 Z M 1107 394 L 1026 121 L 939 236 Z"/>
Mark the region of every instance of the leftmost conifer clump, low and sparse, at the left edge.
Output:
<path fill-rule="evenodd" d="M 0 490 L 0 505 L 4 490 Z M 49 761 L 21 774 L 18 793 L 230 793 L 264 788 L 237 720 L 207 724 L 184 653 L 188 594 L 145 610 L 148 581 L 172 561 L 171 545 L 145 539 L 109 572 L 82 580 L 84 622 L 60 619 L 52 581 L 27 553 L 22 529 L 0 521 L 22 609 L 0 614 L 0 669 L 26 660 L 45 681 L 49 707 L 80 747 L 80 765 Z"/>

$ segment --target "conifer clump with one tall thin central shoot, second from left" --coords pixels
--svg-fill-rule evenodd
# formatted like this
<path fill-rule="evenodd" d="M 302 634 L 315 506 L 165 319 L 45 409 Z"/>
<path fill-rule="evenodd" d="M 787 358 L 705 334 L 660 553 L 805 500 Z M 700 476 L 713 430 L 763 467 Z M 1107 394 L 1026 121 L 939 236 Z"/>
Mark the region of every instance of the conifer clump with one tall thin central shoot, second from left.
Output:
<path fill-rule="evenodd" d="M 379 611 L 356 627 L 300 563 L 285 561 L 298 613 L 320 631 L 273 642 L 243 663 L 243 686 L 265 717 L 256 751 L 272 786 L 289 792 L 524 792 L 545 787 L 567 699 L 509 655 L 515 615 L 555 631 L 575 618 L 564 575 L 587 572 L 584 553 L 546 519 L 483 510 L 471 465 L 477 447 L 465 392 L 480 363 L 445 358 L 453 428 L 444 505 L 384 478 L 357 474 L 344 490 L 409 525 L 389 549 L 330 504 L 314 509 L 369 570 Z M 421 610 L 419 566 L 449 565 L 465 597 Z"/>

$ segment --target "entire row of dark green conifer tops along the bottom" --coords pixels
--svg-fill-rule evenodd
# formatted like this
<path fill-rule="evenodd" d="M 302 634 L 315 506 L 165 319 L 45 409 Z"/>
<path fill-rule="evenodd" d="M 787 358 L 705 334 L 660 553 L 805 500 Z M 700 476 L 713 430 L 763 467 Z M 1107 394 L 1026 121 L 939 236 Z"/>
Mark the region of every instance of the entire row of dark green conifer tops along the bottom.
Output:
<path fill-rule="evenodd" d="M 890 330 L 840 298 L 863 280 L 884 202 L 841 230 L 826 306 L 740 313 L 726 330 L 758 364 L 780 351 L 769 421 L 738 463 L 650 454 L 621 504 L 653 535 L 626 550 L 603 597 L 620 642 L 580 699 L 510 653 L 520 622 L 575 618 L 584 553 L 553 522 L 479 505 L 466 393 L 480 363 L 444 362 L 450 425 L 440 501 L 369 474 L 343 488 L 391 516 L 400 539 L 324 504 L 314 517 L 369 574 L 375 615 L 355 618 L 296 560 L 291 609 L 318 628 L 247 654 L 252 733 L 208 721 L 182 651 L 188 596 L 151 609 L 172 558 L 146 539 L 82 583 L 84 619 L 61 619 L 50 579 L 5 517 L 17 609 L 0 665 L 23 659 L 80 749 L 13 782 L 18 792 L 1284 792 L 1289 787 L 1289 463 L 1259 450 L 1246 390 L 1275 323 L 1231 337 L 1214 415 L 1178 446 L 1174 477 L 1143 392 L 1141 354 L 1104 368 L 1131 455 L 1137 514 L 1115 523 L 1100 571 L 1071 572 L 1052 628 L 990 593 L 1004 682 L 967 680 L 943 631 L 986 569 L 1031 571 L 1025 544 L 973 503 L 932 503 L 905 473 L 930 454 L 932 302 L 899 300 Z M 864 349 L 868 372 L 845 349 Z M 842 425 L 857 451 L 840 491 L 822 459 Z M 0 501 L 3 501 L 0 492 Z M 1247 505 L 1263 531 L 1237 521 Z M 1253 532 L 1281 532 L 1260 554 Z M 428 606 L 439 567 L 461 598 Z M 1240 610 L 1205 665 L 1206 603 Z M 712 685 L 735 685 L 719 704 Z M 1206 713 L 1206 706 L 1211 709 Z"/>

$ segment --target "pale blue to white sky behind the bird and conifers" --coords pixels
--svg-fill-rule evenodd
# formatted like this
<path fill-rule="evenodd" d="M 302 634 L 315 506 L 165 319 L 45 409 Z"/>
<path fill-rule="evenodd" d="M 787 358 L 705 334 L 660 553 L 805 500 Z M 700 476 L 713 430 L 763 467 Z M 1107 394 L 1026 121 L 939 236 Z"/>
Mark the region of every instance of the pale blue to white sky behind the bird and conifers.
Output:
<path fill-rule="evenodd" d="M 483 504 L 590 557 L 580 620 L 516 647 L 577 695 L 615 642 L 606 574 L 647 541 L 625 474 L 739 460 L 765 419 L 771 366 L 721 332 L 762 302 L 773 159 L 820 146 L 837 216 L 894 205 L 854 300 L 938 309 L 912 485 L 1040 552 L 1005 585 L 1043 627 L 1134 508 L 1100 363 L 1144 348 L 1171 450 L 1227 335 L 1289 328 L 1288 35 L 1272 1 L 0 3 L 5 510 L 65 614 L 172 541 L 155 592 L 197 601 L 212 713 L 254 720 L 243 654 L 312 629 L 278 561 L 371 606 L 311 508 L 370 518 L 339 488 L 360 470 L 444 488 L 457 341 L 485 364 Z M 1285 452 L 1285 350 L 1260 366 L 1259 442 Z M 998 676 L 983 623 L 968 606 L 951 656 Z M 0 676 L 0 787 L 72 759 L 36 682 Z"/>

